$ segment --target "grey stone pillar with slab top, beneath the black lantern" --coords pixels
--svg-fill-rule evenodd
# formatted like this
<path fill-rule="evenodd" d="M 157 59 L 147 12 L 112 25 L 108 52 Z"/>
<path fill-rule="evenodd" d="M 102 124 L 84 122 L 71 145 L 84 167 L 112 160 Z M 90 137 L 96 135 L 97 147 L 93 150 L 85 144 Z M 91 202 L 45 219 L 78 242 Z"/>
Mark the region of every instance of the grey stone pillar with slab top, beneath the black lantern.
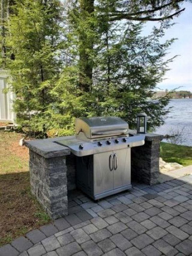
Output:
<path fill-rule="evenodd" d="M 163 135 L 148 133 L 145 145 L 131 148 L 131 178 L 148 185 L 158 183 L 160 142 Z"/>

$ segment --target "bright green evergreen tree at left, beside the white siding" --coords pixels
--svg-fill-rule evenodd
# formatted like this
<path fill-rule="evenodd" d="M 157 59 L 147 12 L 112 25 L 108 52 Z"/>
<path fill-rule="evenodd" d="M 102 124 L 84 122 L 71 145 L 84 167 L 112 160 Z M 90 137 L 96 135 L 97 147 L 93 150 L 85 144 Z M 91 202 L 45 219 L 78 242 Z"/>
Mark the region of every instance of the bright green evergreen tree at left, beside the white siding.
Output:
<path fill-rule="evenodd" d="M 19 125 L 46 135 L 49 108 L 54 102 L 54 88 L 63 58 L 61 54 L 62 13 L 58 0 L 18 0 L 8 23 L 7 46 L 11 85 L 16 93 L 14 110 Z M 31 115 L 34 118 L 31 118 Z"/>

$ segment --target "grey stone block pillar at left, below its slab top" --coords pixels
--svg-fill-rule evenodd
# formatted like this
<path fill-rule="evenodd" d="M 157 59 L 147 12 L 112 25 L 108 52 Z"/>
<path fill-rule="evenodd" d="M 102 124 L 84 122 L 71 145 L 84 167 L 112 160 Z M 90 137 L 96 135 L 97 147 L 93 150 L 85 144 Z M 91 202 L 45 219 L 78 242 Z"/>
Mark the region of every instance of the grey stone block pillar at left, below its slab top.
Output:
<path fill-rule="evenodd" d="M 31 192 L 53 219 L 68 214 L 66 156 L 45 158 L 29 150 Z"/>

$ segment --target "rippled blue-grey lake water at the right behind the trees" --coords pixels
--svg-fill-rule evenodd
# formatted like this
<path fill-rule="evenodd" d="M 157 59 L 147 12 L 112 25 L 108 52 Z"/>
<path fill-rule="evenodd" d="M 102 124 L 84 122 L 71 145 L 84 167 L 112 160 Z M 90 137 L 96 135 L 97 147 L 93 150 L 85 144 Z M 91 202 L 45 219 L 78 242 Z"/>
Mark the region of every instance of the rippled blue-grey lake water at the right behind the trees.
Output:
<path fill-rule="evenodd" d="M 156 129 L 156 133 L 170 134 L 172 129 L 184 128 L 186 134 L 182 145 L 192 146 L 192 98 L 172 99 L 167 107 L 173 107 L 165 124 Z"/>

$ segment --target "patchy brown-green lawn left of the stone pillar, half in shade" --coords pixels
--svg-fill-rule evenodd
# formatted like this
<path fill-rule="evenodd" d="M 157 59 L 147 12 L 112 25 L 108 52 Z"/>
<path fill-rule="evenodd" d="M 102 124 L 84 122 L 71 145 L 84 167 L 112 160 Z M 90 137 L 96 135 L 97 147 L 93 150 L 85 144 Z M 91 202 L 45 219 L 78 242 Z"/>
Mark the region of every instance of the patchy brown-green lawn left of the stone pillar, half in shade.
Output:
<path fill-rule="evenodd" d="M 29 151 L 22 134 L 0 131 L 0 246 L 50 222 L 30 192 Z"/>

